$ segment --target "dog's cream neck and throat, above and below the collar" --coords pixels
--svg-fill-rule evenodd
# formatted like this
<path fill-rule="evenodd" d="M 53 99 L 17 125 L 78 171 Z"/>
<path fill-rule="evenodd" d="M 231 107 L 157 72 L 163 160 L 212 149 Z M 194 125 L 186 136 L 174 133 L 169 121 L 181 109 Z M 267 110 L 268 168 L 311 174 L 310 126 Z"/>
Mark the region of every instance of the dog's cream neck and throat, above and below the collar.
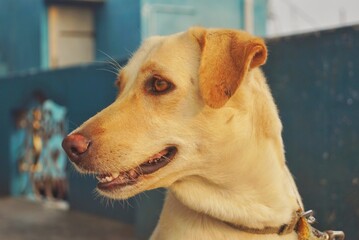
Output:
<path fill-rule="evenodd" d="M 289 224 L 298 210 L 300 199 L 293 179 L 284 163 L 268 159 L 273 155 L 268 154 L 273 151 L 268 145 L 268 149 L 262 145 L 257 158 L 251 159 L 257 161 L 251 169 L 243 164 L 241 171 L 232 167 L 225 172 L 226 164 L 213 168 L 209 164 L 206 176 L 172 184 L 152 239 L 297 239 L 295 232 L 253 235 L 228 224 L 279 228 Z M 217 160 L 225 162 L 223 158 Z"/>

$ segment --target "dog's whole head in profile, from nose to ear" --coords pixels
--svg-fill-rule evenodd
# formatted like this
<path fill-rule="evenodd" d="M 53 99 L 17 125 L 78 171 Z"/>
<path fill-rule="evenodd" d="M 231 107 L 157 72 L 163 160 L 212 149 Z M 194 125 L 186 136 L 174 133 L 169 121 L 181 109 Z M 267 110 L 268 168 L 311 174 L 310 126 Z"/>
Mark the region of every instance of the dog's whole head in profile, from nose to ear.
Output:
<path fill-rule="evenodd" d="M 114 103 L 67 136 L 63 147 L 111 198 L 201 175 L 230 157 L 223 150 L 233 148 L 226 146 L 230 138 L 249 138 L 252 101 L 239 89 L 266 56 L 263 40 L 241 31 L 191 28 L 152 37 L 120 71 Z"/>

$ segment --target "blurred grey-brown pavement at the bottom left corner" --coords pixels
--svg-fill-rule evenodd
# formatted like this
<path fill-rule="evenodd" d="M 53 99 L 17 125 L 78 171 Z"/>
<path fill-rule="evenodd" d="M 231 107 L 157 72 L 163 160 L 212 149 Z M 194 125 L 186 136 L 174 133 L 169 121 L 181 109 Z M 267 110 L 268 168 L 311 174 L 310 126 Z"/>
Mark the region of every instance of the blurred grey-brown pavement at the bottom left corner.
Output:
<path fill-rule="evenodd" d="M 0 198 L 0 240 L 135 240 L 131 226 L 41 202 Z"/>

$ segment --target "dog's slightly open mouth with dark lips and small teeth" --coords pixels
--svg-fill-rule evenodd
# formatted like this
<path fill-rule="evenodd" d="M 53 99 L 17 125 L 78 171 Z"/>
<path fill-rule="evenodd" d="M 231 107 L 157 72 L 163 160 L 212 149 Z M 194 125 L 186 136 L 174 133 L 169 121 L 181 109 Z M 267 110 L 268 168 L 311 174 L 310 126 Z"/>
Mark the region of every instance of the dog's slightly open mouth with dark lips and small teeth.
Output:
<path fill-rule="evenodd" d="M 141 165 L 123 172 L 98 173 L 97 188 L 102 191 L 110 191 L 113 188 L 134 185 L 143 175 L 151 174 L 166 166 L 173 160 L 177 153 L 177 147 L 171 146 L 156 153 Z"/>

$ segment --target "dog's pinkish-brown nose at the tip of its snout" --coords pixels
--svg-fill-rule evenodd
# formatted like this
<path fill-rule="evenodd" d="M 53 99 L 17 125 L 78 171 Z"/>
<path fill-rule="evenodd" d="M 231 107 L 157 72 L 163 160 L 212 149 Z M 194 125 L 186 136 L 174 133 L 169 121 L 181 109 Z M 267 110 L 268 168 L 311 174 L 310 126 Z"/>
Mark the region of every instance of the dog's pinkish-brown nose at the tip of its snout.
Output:
<path fill-rule="evenodd" d="M 62 147 L 65 150 L 69 159 L 74 163 L 78 163 L 83 154 L 86 153 L 89 149 L 90 143 L 90 139 L 84 137 L 79 133 L 74 133 L 68 135 L 62 141 Z"/>

